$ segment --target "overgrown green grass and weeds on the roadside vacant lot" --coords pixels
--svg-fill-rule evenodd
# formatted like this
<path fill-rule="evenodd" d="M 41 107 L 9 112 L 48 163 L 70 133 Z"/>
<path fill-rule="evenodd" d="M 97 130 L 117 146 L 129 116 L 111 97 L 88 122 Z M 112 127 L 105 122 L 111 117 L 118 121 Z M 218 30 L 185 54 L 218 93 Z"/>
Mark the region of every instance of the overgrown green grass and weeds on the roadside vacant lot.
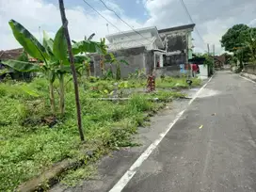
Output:
<path fill-rule="evenodd" d="M 136 82 L 129 80 L 129 85 L 133 84 L 131 81 Z M 184 84 L 184 80 L 172 81 Z M 122 103 L 88 99 L 106 97 L 104 90 L 112 91 L 113 83 L 114 81 L 100 80 L 84 82 L 80 86 L 82 122 L 87 140 L 84 144 L 79 139 L 72 81 L 68 81 L 68 78 L 65 83 L 66 114 L 63 118 L 56 116 L 54 126 L 46 122 L 53 117 L 46 80 L 37 78 L 29 84 L 1 83 L 0 191 L 13 191 L 19 184 L 65 158 L 86 159 L 85 163 L 88 164 L 111 150 L 136 145 L 132 136 L 136 134 L 137 126 L 143 125 L 144 113 L 161 106 L 148 98 L 158 97 L 163 102 L 168 102 L 173 97 L 181 96 L 181 93 L 162 90 L 152 94 L 135 93 L 131 95 L 131 100 Z M 165 82 L 167 85 L 168 83 Z M 144 88 L 143 82 L 133 85 Z M 56 81 L 56 104 L 57 88 Z M 93 152 L 93 157 L 87 159 L 81 151 Z M 87 171 L 79 168 L 71 170 L 63 181 L 74 184 L 79 178 L 88 176 Z"/>

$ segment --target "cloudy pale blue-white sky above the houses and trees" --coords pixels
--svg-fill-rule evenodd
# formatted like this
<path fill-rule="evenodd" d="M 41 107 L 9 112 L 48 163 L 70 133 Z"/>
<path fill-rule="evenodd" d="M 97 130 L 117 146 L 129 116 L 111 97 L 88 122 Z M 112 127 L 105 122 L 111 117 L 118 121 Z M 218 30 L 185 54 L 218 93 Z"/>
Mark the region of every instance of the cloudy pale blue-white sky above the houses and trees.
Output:
<path fill-rule="evenodd" d="M 123 24 L 111 11 L 104 8 L 99 0 L 87 0 L 104 17 L 121 31 L 130 28 Z M 135 28 L 157 26 L 158 29 L 181 24 L 190 20 L 180 0 L 104 0 L 115 9 L 121 18 Z M 106 22 L 83 0 L 64 0 L 72 40 L 82 40 L 85 35 L 96 33 L 95 40 L 108 34 Z M 219 40 L 233 24 L 256 26 L 255 0 L 184 0 L 199 35 L 193 32 L 196 52 L 206 51 L 206 44 L 216 44 L 216 53 L 223 50 Z M 59 28 L 60 14 L 57 0 L 0 0 L 0 50 L 18 48 L 8 21 L 14 19 L 23 24 L 33 35 L 41 39 L 42 30 L 54 36 Z M 109 24 L 109 33 L 118 32 Z"/>

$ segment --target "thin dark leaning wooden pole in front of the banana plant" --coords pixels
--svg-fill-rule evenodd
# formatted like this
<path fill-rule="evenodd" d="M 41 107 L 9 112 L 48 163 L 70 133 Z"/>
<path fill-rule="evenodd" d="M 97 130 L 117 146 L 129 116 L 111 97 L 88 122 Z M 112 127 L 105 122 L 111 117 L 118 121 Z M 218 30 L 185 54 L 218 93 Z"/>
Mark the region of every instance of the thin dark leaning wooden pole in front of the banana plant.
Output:
<path fill-rule="evenodd" d="M 75 72 L 75 68 L 74 68 L 74 60 L 73 60 L 73 56 L 72 56 L 72 43 L 71 43 L 69 29 L 68 29 L 68 21 L 67 21 L 66 14 L 65 14 L 65 8 L 64 8 L 63 0 L 58 0 L 58 3 L 59 3 L 61 21 L 62 21 L 62 24 L 63 24 L 65 37 L 66 37 L 66 40 L 67 40 L 67 43 L 68 43 L 68 51 L 69 51 L 69 56 L 70 56 L 71 68 L 72 68 L 72 81 L 73 81 L 74 94 L 75 94 L 78 131 L 79 131 L 81 140 L 84 141 L 85 136 L 84 136 L 83 128 L 82 128 L 81 106 L 80 106 L 80 101 L 79 101 L 79 90 L 78 90 L 78 84 L 77 84 L 77 76 L 76 76 L 76 72 Z"/>

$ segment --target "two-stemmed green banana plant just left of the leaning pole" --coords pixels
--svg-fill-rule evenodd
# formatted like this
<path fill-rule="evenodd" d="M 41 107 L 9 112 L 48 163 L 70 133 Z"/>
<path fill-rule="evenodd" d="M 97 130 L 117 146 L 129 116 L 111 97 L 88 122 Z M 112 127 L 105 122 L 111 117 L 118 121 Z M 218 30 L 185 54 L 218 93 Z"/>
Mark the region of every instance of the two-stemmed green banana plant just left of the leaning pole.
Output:
<path fill-rule="evenodd" d="M 58 76 L 60 80 L 60 113 L 64 114 L 63 74 L 69 72 L 69 62 L 63 27 L 61 26 L 57 31 L 55 40 L 48 38 L 44 32 L 41 44 L 22 24 L 14 20 L 10 20 L 8 24 L 15 39 L 24 47 L 24 51 L 29 56 L 37 58 L 40 64 L 18 60 L 8 60 L 4 64 L 18 72 L 42 72 L 49 81 L 50 103 L 54 114 L 56 113 L 56 103 L 53 85 Z"/>

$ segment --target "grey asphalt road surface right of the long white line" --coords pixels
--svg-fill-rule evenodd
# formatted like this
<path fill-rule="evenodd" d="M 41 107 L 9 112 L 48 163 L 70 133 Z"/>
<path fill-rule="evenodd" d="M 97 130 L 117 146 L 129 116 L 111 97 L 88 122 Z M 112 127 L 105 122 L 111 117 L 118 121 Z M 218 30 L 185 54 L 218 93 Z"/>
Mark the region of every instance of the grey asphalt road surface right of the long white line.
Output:
<path fill-rule="evenodd" d="M 122 192 L 256 191 L 256 84 L 212 81 Z"/>

